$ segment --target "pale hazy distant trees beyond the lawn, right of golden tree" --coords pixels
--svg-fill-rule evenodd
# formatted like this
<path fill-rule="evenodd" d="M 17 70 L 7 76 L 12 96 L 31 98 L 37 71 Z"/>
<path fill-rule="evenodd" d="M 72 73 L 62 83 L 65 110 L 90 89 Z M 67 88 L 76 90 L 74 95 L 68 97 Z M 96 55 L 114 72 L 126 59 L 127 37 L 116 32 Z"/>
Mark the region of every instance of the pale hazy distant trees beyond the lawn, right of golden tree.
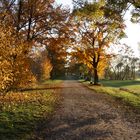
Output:
<path fill-rule="evenodd" d="M 136 78 L 138 58 L 131 47 L 121 45 L 121 50 L 110 60 L 106 70 L 106 78 L 114 80 L 130 80 Z"/>

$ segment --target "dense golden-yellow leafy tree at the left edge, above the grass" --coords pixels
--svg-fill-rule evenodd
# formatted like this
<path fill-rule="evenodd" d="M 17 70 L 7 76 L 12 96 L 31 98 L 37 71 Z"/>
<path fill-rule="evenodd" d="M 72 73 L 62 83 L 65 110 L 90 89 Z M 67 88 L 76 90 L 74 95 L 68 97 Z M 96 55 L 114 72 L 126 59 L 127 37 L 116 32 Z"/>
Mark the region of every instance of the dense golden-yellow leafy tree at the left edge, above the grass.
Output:
<path fill-rule="evenodd" d="M 12 27 L 0 24 L 0 91 L 29 85 L 35 80 L 25 54 L 28 44 Z"/>

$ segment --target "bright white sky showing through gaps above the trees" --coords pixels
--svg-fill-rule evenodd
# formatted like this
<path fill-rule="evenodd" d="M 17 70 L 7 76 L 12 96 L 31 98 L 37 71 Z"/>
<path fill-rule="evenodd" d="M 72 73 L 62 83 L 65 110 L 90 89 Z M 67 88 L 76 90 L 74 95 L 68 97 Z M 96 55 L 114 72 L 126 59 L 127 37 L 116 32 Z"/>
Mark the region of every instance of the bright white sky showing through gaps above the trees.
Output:
<path fill-rule="evenodd" d="M 72 0 L 56 0 L 58 4 L 63 4 L 64 6 L 69 6 L 72 8 Z M 140 24 L 134 24 L 130 21 L 131 11 L 128 11 L 124 17 L 126 29 L 125 33 L 127 35 L 127 38 L 124 38 L 121 40 L 121 43 L 125 43 L 128 46 L 130 46 L 133 51 L 135 52 L 135 55 L 138 57 L 138 42 L 140 42 Z"/>

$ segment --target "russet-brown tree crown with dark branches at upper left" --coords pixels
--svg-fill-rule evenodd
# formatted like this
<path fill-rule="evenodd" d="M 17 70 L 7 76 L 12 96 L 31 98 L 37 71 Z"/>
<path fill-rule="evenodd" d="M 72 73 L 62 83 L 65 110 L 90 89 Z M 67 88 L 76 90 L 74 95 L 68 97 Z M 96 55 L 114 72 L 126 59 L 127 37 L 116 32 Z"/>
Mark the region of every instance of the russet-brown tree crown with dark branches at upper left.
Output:
<path fill-rule="evenodd" d="M 46 42 L 65 26 L 69 11 L 53 0 L 1 0 L 1 20 L 10 23 L 27 41 Z"/>

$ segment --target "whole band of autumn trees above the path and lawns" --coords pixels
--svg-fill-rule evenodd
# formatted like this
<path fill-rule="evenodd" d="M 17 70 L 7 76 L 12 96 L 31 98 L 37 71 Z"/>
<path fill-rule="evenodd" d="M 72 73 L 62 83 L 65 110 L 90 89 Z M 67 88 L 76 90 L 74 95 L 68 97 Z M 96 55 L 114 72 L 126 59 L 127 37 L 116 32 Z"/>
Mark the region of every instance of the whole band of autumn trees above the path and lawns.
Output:
<path fill-rule="evenodd" d="M 66 71 L 93 77 L 95 85 L 99 78 L 135 79 L 139 58 L 119 41 L 126 37 L 123 17 L 132 4 L 132 22 L 139 23 L 139 2 L 73 4 L 70 11 L 51 0 L 0 2 L 1 91 L 55 79 Z M 111 47 L 119 53 L 110 52 Z"/>

